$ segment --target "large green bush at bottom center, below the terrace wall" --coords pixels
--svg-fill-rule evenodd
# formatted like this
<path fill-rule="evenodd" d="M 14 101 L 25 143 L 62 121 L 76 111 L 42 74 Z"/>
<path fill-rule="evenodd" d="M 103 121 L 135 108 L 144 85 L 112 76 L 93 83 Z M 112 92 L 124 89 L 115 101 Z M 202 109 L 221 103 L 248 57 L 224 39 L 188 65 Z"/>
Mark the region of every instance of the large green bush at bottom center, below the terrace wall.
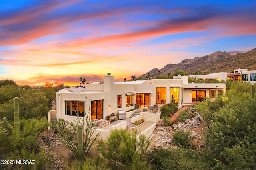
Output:
<path fill-rule="evenodd" d="M 107 140 L 100 140 L 98 150 L 108 160 L 112 169 L 149 169 L 146 162 L 147 149 L 150 144 L 145 135 L 137 141 L 136 132 L 128 133 L 125 129 L 114 129 Z"/>

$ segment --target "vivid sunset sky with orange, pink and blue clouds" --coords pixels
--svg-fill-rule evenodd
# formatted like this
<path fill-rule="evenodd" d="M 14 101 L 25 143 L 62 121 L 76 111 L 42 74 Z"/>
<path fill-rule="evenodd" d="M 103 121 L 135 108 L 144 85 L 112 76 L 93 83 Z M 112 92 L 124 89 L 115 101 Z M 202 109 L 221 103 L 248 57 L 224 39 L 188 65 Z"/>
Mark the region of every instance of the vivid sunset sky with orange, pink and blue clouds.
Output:
<path fill-rule="evenodd" d="M 256 48 L 255 0 L 0 0 L 0 79 L 69 86 Z"/>

